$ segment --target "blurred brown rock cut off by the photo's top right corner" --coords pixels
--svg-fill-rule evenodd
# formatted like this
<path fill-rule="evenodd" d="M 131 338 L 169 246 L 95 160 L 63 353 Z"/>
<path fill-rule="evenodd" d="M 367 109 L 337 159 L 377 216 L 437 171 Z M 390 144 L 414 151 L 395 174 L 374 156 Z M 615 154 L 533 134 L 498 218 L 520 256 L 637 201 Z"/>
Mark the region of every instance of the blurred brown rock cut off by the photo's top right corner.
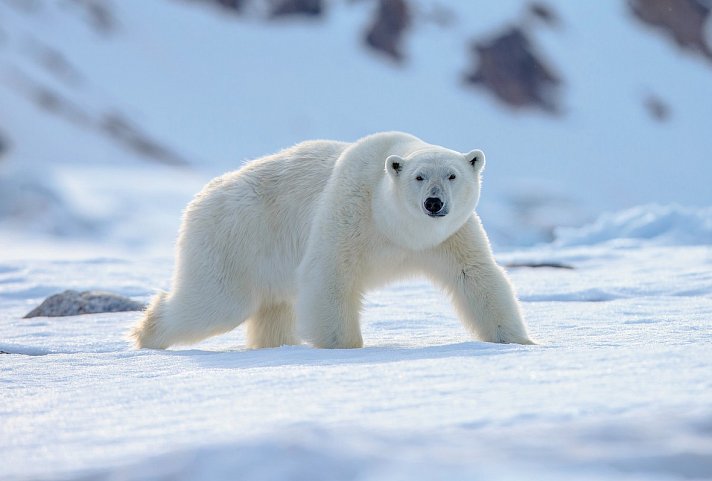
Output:
<path fill-rule="evenodd" d="M 633 14 L 642 22 L 664 30 L 683 48 L 712 60 L 712 47 L 705 26 L 710 17 L 709 2 L 702 0 L 628 0 Z"/>

